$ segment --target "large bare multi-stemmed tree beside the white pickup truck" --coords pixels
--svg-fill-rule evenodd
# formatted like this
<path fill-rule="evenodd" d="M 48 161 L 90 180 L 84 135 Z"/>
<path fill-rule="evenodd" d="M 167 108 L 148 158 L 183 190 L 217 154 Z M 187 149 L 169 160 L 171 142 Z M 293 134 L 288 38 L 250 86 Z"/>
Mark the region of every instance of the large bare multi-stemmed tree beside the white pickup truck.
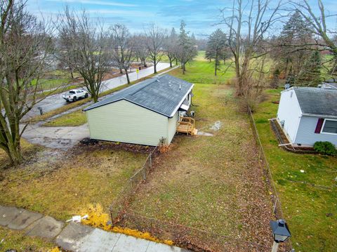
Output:
<path fill-rule="evenodd" d="M 68 55 L 63 60 L 70 60 L 68 65 L 79 72 L 88 93 L 97 102 L 103 78 L 110 71 L 111 65 L 107 33 L 103 24 L 90 20 L 86 11 L 77 15 L 66 7 L 58 29 L 60 34 L 67 34 L 59 38 L 61 44 L 68 44 Z"/>

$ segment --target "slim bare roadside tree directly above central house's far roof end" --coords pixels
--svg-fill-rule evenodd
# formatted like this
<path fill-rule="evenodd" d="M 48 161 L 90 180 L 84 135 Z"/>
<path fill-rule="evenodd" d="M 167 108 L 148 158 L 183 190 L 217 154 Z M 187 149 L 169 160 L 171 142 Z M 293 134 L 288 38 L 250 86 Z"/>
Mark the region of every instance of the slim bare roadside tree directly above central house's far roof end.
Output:
<path fill-rule="evenodd" d="M 149 57 L 154 67 L 154 74 L 157 74 L 157 64 L 164 55 L 162 50 L 166 31 L 157 27 L 157 25 L 151 24 L 145 31 L 145 35 L 147 37 L 147 50 L 149 51 Z"/>

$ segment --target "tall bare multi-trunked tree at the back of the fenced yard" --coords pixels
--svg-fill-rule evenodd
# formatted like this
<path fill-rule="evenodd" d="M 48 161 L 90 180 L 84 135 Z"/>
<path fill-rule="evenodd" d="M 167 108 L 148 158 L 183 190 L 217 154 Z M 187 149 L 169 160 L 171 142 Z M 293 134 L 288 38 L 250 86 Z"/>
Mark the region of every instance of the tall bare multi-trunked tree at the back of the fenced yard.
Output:
<path fill-rule="evenodd" d="M 252 80 L 253 73 L 258 69 L 251 65 L 251 61 L 266 55 L 270 50 L 264 38 L 270 27 L 281 18 L 278 11 L 282 5 L 279 1 L 271 8 L 271 3 L 270 0 L 234 0 L 230 8 L 232 15 L 226 16 L 228 8 L 221 11 L 223 23 L 228 29 L 228 44 L 234 57 L 236 93 L 239 96 L 245 93 L 247 95 L 255 82 Z"/>

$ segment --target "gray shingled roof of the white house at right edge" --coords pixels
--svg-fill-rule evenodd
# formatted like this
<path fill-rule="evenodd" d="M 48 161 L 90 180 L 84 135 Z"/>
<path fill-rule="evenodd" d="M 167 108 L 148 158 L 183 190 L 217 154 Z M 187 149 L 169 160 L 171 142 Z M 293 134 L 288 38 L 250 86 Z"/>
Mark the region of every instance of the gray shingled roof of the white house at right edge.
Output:
<path fill-rule="evenodd" d="M 337 89 L 294 88 L 303 114 L 337 117 Z"/>

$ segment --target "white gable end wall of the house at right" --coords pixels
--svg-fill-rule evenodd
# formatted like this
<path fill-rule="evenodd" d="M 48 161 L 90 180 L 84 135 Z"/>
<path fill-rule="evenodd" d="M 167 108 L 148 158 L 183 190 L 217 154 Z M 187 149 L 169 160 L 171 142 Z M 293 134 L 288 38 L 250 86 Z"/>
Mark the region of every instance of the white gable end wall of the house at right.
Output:
<path fill-rule="evenodd" d="M 284 121 L 283 131 L 290 142 L 296 139 L 301 114 L 295 91 L 292 88 L 282 91 L 277 119 L 279 122 Z"/>

